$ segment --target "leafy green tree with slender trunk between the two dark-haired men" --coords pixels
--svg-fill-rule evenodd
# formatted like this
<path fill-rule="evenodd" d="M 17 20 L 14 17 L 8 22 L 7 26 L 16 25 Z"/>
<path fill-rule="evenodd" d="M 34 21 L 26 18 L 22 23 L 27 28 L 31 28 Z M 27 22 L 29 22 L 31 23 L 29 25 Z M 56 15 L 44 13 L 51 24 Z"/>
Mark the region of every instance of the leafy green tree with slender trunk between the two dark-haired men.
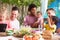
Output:
<path fill-rule="evenodd" d="M 55 0 L 48 0 L 48 5 L 50 5 Z M 40 0 L 0 0 L 2 4 L 8 4 L 8 5 L 15 5 L 20 7 L 21 6 L 21 23 L 23 22 L 24 14 L 27 12 L 24 12 L 24 8 L 27 10 L 27 6 L 30 4 L 35 4 L 38 6 L 41 6 Z M 25 10 L 25 11 L 26 11 Z"/>

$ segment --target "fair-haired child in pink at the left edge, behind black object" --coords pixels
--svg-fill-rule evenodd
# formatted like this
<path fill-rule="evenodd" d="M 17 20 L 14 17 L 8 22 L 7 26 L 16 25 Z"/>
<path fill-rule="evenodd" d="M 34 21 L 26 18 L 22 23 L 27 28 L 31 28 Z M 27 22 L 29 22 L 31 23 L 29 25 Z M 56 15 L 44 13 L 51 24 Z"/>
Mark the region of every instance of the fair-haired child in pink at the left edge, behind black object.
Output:
<path fill-rule="evenodd" d="M 0 24 L 7 24 L 6 30 L 8 30 L 8 29 L 10 29 L 11 27 L 10 27 L 9 22 L 6 21 L 6 16 L 7 16 L 6 13 L 7 13 L 7 11 L 6 11 L 5 8 L 2 8 L 2 9 L 0 10 Z"/>

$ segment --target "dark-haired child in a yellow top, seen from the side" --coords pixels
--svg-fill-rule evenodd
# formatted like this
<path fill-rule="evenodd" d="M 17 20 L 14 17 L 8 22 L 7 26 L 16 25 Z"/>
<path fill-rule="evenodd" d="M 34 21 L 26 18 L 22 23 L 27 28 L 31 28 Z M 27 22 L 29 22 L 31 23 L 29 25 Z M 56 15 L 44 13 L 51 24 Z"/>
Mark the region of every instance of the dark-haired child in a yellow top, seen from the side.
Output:
<path fill-rule="evenodd" d="M 55 16 L 48 18 L 48 24 L 45 25 L 46 30 L 49 30 L 52 33 L 54 33 L 56 31 L 56 23 L 57 18 Z"/>

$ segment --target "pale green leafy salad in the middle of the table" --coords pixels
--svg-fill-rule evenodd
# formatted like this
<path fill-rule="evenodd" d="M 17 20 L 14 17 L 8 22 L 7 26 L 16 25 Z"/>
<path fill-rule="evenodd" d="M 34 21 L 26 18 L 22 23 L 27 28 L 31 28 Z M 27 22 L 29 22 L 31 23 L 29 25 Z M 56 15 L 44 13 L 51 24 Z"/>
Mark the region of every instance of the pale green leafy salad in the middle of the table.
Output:
<path fill-rule="evenodd" d="M 15 36 L 23 37 L 25 34 L 30 35 L 31 34 L 30 31 L 31 31 L 30 27 L 22 27 L 19 31 L 15 32 Z"/>

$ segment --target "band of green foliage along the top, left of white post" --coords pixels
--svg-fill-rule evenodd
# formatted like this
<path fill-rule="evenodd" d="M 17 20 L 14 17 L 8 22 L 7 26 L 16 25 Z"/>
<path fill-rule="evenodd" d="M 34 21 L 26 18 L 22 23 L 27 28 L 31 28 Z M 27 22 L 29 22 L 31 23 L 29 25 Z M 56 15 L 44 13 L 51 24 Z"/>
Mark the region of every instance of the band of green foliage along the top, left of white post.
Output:
<path fill-rule="evenodd" d="M 12 4 L 12 5 L 24 5 L 28 6 L 31 3 L 36 4 L 37 6 L 40 6 L 40 0 L 1 0 L 2 3 Z"/>

